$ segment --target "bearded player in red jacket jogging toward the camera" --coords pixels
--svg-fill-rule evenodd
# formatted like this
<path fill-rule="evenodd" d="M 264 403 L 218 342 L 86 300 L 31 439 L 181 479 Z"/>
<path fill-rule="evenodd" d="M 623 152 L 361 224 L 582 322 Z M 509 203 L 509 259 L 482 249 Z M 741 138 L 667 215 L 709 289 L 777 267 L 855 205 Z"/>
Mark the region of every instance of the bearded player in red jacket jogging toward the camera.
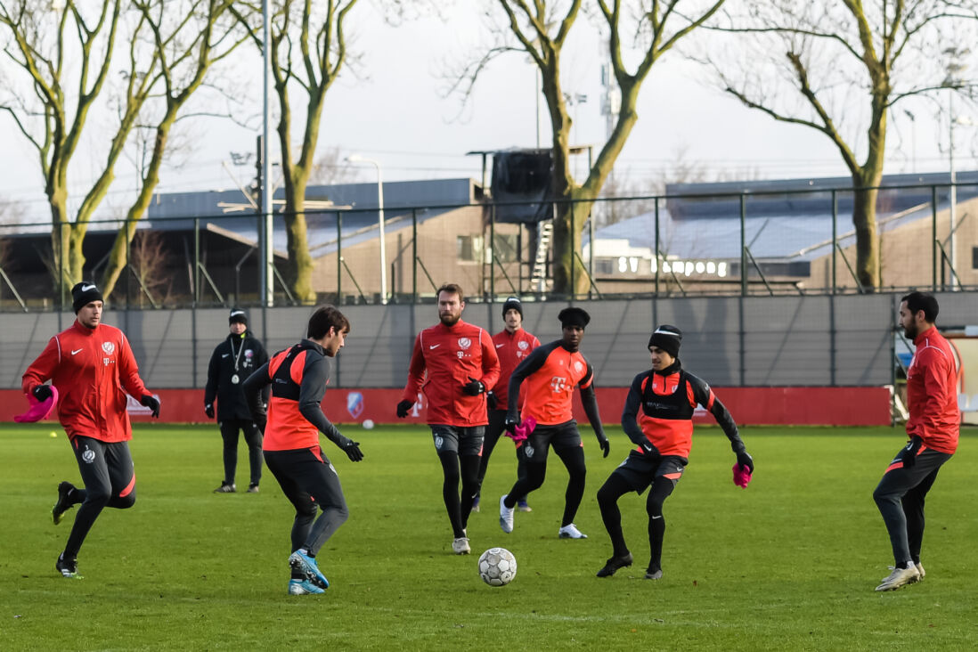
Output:
<path fill-rule="evenodd" d="M 488 422 L 485 394 L 499 378 L 499 358 L 489 333 L 462 320 L 466 297 L 459 285 L 442 285 L 436 296 L 439 323 L 415 338 L 397 415 L 407 416 L 423 389 L 444 475 L 441 493 L 452 526 L 452 551 L 468 554 L 468 513 L 479 491 L 479 456 Z"/>

